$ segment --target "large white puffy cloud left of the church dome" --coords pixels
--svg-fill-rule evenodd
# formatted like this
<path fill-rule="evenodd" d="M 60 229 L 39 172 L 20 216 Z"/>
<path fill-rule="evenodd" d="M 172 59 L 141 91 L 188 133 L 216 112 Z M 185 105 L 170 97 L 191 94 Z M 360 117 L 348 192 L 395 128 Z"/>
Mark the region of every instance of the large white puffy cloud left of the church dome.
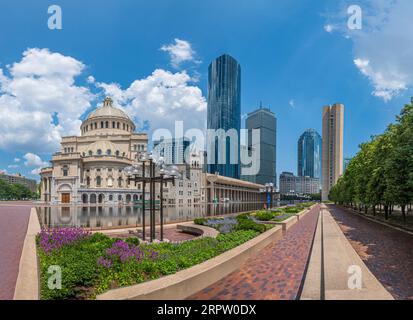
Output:
<path fill-rule="evenodd" d="M 83 63 L 48 49 L 28 49 L 0 69 L 0 149 L 51 152 L 62 135 L 79 133 L 79 117 L 93 94 L 77 86 Z"/>

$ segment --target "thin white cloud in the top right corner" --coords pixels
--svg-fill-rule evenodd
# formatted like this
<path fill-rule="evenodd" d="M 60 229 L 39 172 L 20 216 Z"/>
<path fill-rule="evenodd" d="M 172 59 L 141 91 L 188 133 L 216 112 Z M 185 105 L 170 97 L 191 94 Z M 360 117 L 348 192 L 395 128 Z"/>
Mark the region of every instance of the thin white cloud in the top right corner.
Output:
<path fill-rule="evenodd" d="M 345 12 L 351 1 L 344 1 Z M 389 101 L 413 86 L 411 0 L 366 0 L 362 29 L 347 28 L 348 15 L 338 15 L 344 36 L 353 42 L 354 64 L 366 76 L 372 94 Z"/>

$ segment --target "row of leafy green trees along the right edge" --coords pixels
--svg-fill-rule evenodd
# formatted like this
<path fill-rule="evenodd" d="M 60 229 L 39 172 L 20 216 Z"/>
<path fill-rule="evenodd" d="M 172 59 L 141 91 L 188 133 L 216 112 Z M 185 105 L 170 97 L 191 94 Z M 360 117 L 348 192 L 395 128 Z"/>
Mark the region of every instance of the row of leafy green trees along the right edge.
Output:
<path fill-rule="evenodd" d="M 386 219 L 399 206 L 406 221 L 413 203 L 413 98 L 395 124 L 360 145 L 329 198 L 366 213 L 384 209 Z"/>

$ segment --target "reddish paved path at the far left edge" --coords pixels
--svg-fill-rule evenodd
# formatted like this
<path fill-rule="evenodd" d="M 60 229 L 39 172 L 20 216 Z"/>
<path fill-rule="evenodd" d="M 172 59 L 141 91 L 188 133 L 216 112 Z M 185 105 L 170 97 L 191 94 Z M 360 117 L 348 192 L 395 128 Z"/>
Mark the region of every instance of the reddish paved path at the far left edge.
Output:
<path fill-rule="evenodd" d="M 30 207 L 0 203 L 0 300 L 13 299 Z"/>

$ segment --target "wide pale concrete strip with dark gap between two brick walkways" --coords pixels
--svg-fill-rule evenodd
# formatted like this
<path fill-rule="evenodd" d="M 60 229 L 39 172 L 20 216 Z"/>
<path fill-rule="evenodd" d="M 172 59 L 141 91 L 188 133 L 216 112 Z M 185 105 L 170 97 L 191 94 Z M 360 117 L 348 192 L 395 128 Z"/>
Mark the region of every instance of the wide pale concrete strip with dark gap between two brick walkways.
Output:
<path fill-rule="evenodd" d="M 310 263 L 305 277 L 302 300 L 393 300 L 361 260 L 337 222 L 322 207 Z M 351 268 L 351 269 L 350 269 Z M 360 289 L 349 282 L 360 272 Z"/>

